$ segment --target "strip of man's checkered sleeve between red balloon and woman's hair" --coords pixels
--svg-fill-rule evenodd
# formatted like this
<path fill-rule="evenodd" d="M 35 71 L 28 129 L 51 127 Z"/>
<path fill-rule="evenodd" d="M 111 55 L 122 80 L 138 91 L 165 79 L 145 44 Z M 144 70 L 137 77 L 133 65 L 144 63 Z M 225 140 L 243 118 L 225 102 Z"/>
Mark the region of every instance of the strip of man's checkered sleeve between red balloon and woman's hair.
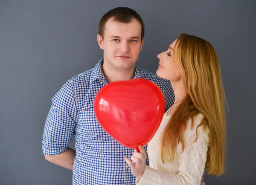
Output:
<path fill-rule="evenodd" d="M 174 92 L 172 89 L 171 82 L 163 79 L 163 95 L 165 98 L 165 112 L 172 106 L 175 100 Z"/>

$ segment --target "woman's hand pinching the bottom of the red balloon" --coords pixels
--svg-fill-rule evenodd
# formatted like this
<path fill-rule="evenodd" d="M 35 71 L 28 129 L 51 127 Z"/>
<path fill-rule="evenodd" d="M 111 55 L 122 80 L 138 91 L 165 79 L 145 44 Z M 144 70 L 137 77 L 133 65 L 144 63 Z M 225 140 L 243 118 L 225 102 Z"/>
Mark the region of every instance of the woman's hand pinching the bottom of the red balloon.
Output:
<path fill-rule="evenodd" d="M 125 162 L 130 166 L 131 173 L 137 178 L 141 179 L 145 171 L 145 162 L 146 162 L 146 151 L 143 146 L 139 146 L 140 152 L 134 150 L 133 155 L 131 156 L 131 161 L 125 157 Z"/>

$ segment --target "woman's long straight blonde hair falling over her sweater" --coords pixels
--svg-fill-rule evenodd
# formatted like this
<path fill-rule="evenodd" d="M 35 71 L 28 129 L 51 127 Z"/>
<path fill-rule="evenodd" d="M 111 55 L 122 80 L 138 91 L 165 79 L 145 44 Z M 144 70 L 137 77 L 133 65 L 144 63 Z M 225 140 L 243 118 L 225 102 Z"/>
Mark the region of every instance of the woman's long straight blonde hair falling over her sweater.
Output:
<path fill-rule="evenodd" d="M 161 143 L 161 158 L 173 162 L 177 143 L 184 141 L 182 134 L 189 119 L 202 113 L 204 119 L 199 126 L 209 129 L 209 147 L 207 151 L 206 171 L 220 176 L 224 173 L 226 149 L 226 98 L 221 82 L 221 68 L 212 45 L 202 38 L 181 34 L 174 51 L 177 49 L 177 61 L 184 77 L 186 98 L 180 103 L 166 128 Z M 174 52 L 173 52 L 174 53 Z M 199 127 L 198 126 L 198 127 Z M 197 139 L 197 138 L 196 138 Z"/>

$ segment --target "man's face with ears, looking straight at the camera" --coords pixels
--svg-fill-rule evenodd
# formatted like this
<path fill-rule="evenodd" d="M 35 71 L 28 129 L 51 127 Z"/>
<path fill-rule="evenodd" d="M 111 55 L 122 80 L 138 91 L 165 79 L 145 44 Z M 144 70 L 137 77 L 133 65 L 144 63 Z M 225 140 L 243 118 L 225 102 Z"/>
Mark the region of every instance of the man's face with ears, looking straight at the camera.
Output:
<path fill-rule="evenodd" d="M 134 68 L 142 50 L 141 25 L 133 19 L 131 23 L 120 23 L 109 19 L 105 24 L 104 38 L 97 36 L 104 50 L 104 63 L 116 70 Z"/>

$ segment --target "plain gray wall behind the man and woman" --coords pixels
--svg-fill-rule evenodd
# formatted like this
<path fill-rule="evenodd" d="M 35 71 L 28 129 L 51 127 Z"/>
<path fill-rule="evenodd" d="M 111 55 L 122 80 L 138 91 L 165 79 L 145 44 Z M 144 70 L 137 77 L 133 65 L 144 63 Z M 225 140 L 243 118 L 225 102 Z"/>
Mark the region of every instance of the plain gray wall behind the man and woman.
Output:
<path fill-rule="evenodd" d="M 206 175 L 205 183 L 256 183 L 253 0 L 1 0 L 0 184 L 72 183 L 72 171 L 44 159 L 44 122 L 52 96 L 102 57 L 96 42 L 98 23 L 116 6 L 129 6 L 143 18 L 145 44 L 137 65 L 151 72 L 157 70 L 157 54 L 182 32 L 212 43 L 230 113 L 226 174 Z"/>

